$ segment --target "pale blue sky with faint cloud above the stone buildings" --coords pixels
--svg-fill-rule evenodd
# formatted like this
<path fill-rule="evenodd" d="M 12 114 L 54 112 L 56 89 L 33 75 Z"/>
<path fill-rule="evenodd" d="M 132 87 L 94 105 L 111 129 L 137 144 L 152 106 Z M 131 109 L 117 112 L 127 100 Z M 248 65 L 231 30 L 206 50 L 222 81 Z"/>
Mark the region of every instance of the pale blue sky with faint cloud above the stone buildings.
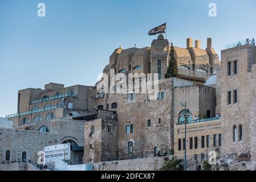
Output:
<path fill-rule="evenodd" d="M 208 15 L 216 3 L 217 16 Z M 46 16 L 38 17 L 38 3 Z M 226 44 L 254 38 L 255 0 L 0 0 L 0 117 L 17 112 L 18 90 L 56 82 L 95 85 L 118 47 L 151 46 L 148 31 L 167 22 L 167 38 L 213 38 Z"/>

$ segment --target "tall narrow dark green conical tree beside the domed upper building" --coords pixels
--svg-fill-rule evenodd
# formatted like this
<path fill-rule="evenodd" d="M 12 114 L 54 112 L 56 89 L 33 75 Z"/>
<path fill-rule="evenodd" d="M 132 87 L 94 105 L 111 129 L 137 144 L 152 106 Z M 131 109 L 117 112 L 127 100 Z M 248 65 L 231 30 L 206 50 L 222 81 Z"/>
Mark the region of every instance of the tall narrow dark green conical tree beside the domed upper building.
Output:
<path fill-rule="evenodd" d="M 174 53 L 174 47 L 173 44 L 171 43 L 172 47 L 170 49 L 170 55 L 169 55 L 169 65 L 167 68 L 167 72 L 165 73 L 165 78 L 170 78 L 170 77 L 180 77 L 178 75 L 178 65 L 177 65 L 177 60 L 176 56 Z"/>

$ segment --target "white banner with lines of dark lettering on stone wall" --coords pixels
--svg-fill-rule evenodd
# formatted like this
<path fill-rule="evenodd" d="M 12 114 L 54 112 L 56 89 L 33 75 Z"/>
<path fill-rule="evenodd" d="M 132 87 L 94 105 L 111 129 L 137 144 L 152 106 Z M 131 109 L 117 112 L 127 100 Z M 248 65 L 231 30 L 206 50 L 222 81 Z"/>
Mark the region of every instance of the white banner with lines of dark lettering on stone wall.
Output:
<path fill-rule="evenodd" d="M 44 162 L 55 162 L 55 160 L 70 160 L 70 143 L 56 144 L 44 147 Z"/>

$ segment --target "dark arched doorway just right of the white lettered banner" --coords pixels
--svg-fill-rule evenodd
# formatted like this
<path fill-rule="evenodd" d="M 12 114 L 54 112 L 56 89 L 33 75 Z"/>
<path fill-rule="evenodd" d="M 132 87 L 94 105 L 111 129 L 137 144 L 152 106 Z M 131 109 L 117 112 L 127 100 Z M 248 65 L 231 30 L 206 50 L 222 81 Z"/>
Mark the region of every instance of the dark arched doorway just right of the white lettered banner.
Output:
<path fill-rule="evenodd" d="M 84 147 L 79 147 L 74 140 L 64 140 L 62 143 L 70 143 L 70 160 L 68 164 L 83 164 Z"/>

